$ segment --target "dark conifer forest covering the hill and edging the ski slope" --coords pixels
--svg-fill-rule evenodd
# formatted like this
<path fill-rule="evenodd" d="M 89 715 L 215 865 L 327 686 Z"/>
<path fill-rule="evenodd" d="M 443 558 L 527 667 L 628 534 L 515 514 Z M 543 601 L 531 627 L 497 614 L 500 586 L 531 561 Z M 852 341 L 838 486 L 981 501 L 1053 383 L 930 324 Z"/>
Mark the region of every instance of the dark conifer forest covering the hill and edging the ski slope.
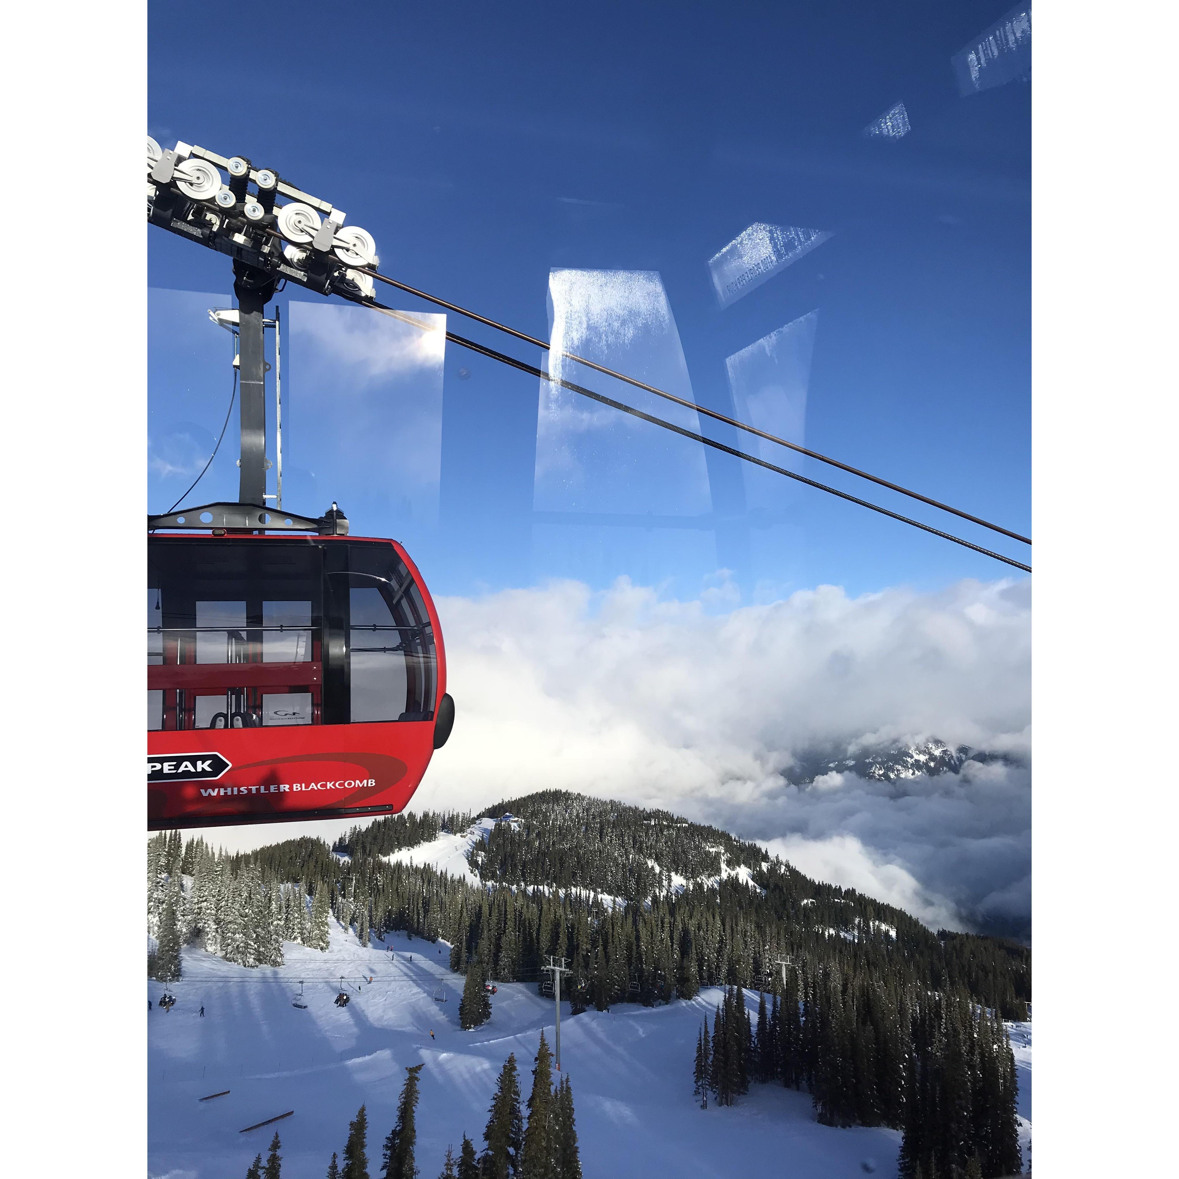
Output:
<path fill-rule="evenodd" d="M 248 854 L 162 832 L 149 843 L 149 974 L 179 979 L 187 943 L 244 967 L 279 966 L 284 942 L 325 950 L 335 918 L 365 946 L 391 931 L 448 943 L 449 968 L 465 976 L 465 1028 L 490 1015 L 496 983 L 551 994 L 549 956 L 567 960 L 573 1017 L 720 987 L 683 1062 L 702 1106 L 735 1105 L 753 1085 L 802 1091 L 825 1125 L 901 1131 L 902 1179 L 992 1179 L 1027 1162 L 1003 1021 L 1028 1017 L 1028 947 L 931 931 L 665 811 L 546 791 L 482 814 L 501 821 L 469 854 L 477 883 L 384 858 L 467 831 L 476 816 L 463 814 L 399 815 L 331 848 L 299 837 Z M 443 1175 L 580 1177 L 572 1089 L 567 1078 L 552 1084 L 544 1039 L 533 1063 L 527 1118 L 512 1058 L 482 1155 L 456 1127 L 461 1147 Z M 413 1069 L 404 1085 L 376 1174 L 415 1173 Z M 354 1124 L 335 1173 L 369 1173 L 354 1158 L 361 1137 Z M 252 1173 L 277 1175 L 278 1165 L 259 1155 Z"/>

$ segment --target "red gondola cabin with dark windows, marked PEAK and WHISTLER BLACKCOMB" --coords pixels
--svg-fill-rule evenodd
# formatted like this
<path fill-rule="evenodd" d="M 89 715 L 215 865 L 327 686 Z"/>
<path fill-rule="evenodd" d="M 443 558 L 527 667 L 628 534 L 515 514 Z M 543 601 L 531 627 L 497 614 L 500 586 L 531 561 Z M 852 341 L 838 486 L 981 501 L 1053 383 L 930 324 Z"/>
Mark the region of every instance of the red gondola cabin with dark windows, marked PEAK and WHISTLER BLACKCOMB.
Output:
<path fill-rule="evenodd" d="M 396 541 L 156 533 L 147 569 L 150 829 L 404 808 L 454 704 Z"/>

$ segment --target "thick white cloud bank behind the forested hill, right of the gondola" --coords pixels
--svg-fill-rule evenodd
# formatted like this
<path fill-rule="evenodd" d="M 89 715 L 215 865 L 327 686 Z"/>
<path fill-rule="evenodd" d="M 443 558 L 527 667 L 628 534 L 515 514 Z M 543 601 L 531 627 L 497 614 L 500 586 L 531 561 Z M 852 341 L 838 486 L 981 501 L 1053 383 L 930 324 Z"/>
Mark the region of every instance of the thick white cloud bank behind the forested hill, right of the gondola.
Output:
<path fill-rule="evenodd" d="M 786 783 L 808 750 L 938 737 L 1030 749 L 1027 582 L 848 598 L 821 586 L 724 615 L 619 581 L 443 599 L 450 743 L 415 808 L 562 788 L 762 839 L 809 875 L 930 924 L 1030 911 L 1030 771 Z"/>

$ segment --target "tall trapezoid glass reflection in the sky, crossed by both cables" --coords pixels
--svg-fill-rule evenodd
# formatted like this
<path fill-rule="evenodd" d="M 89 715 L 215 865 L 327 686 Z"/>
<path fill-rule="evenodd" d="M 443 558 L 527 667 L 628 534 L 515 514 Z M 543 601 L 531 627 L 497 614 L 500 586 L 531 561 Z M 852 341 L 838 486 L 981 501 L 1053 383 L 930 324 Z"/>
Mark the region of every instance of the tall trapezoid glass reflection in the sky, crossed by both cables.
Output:
<path fill-rule="evenodd" d="M 694 400 L 658 274 L 553 270 L 548 291 L 554 376 L 700 432 L 694 409 L 566 355 Z M 533 558 L 547 575 L 598 584 L 674 569 L 694 587 L 716 568 L 702 444 L 547 381 L 540 386 L 533 502 Z"/>

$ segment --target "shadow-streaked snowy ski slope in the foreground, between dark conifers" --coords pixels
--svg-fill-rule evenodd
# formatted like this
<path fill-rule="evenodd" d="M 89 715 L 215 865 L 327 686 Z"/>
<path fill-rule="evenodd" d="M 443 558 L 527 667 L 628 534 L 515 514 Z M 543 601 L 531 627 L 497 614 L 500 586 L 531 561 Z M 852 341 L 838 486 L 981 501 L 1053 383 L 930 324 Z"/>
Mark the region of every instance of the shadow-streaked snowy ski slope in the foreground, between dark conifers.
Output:
<path fill-rule="evenodd" d="M 424 849 L 414 849 L 415 862 Z M 147 1013 L 151 1175 L 236 1179 L 258 1151 L 265 1153 L 277 1128 L 285 1179 L 322 1179 L 362 1102 L 375 1173 L 404 1068 L 424 1062 L 417 1165 L 422 1179 L 434 1179 L 447 1145 L 457 1148 L 465 1131 L 481 1147 L 495 1078 L 509 1052 L 527 1098 L 540 1029 L 553 1040 L 553 1003 L 534 986 L 501 984 L 490 1021 L 462 1032 L 461 979 L 446 967 L 446 943 L 399 934 L 365 949 L 334 926 L 328 953 L 290 942 L 284 953 L 285 966 L 250 970 L 185 949 L 185 977 L 171 987 L 177 1006 Z M 353 996 L 345 1008 L 332 1002 L 341 974 Z M 299 980 L 305 1010 L 291 1006 Z M 162 990 L 149 983 L 152 1000 Z M 436 1001 L 442 994 L 447 1001 Z M 803 1093 L 755 1085 L 733 1108 L 694 1104 L 696 1036 L 719 999 L 720 992 L 704 990 L 692 1002 L 626 1005 L 573 1019 L 565 1007 L 561 1056 L 573 1080 L 586 1179 L 850 1179 L 869 1168 L 895 1175 L 897 1133 L 821 1126 Z M 1022 1084 L 1030 1076 L 1030 1026 L 1015 1028 L 1027 1030 L 1016 1053 Z M 230 1092 L 199 1100 L 222 1089 Z M 288 1109 L 294 1115 L 275 1126 L 239 1133 Z M 1022 1099 L 1020 1112 L 1030 1112 Z"/>

